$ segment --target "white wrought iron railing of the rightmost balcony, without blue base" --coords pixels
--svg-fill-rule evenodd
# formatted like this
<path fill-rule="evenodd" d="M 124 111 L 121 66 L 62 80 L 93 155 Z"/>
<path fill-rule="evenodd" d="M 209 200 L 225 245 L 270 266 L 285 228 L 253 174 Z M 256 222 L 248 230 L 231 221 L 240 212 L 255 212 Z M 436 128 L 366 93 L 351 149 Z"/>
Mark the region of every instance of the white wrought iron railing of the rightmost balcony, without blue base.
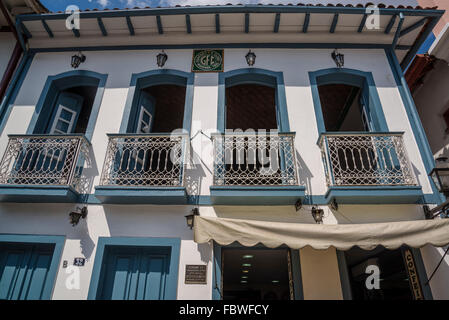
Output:
<path fill-rule="evenodd" d="M 402 137 L 403 133 L 323 134 L 327 185 L 416 185 Z"/>

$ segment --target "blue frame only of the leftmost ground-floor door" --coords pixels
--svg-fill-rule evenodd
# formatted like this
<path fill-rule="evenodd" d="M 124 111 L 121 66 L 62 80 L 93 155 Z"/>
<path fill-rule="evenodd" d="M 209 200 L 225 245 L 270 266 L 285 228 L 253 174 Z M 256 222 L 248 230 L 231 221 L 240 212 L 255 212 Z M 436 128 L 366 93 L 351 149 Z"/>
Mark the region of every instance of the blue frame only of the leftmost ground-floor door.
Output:
<path fill-rule="evenodd" d="M 59 263 L 61 260 L 62 250 L 64 247 L 65 237 L 64 236 L 47 236 L 47 235 L 17 235 L 17 234 L 0 234 L 0 244 L 8 244 L 12 247 L 14 246 L 24 246 L 29 245 L 31 247 L 39 245 L 50 245 L 52 248 L 52 256 L 49 261 L 49 265 L 45 262 L 47 271 L 46 274 L 41 274 L 42 277 L 40 282 L 42 284 L 38 287 L 30 285 L 29 290 L 33 292 L 29 292 L 26 296 L 32 296 L 33 299 L 39 297 L 41 300 L 50 300 L 53 293 L 53 287 L 56 280 L 56 274 L 58 271 Z M 32 258 L 32 257 L 30 257 Z M 34 259 L 38 259 L 39 257 L 34 257 Z M 39 261 L 34 261 L 34 264 L 39 266 Z M 26 267 L 24 265 L 24 267 Z M 0 270 L 1 271 L 1 270 Z M 42 271 L 42 270 L 41 270 Z M 23 268 L 17 272 L 16 280 L 23 276 L 24 270 Z M 41 272 L 42 273 L 42 272 Z M 1 276 L 1 274 L 0 274 Z M 24 279 L 27 281 L 27 279 Z M 29 280 L 28 280 L 29 281 Z M 23 294 L 19 294 L 16 297 L 12 297 L 15 299 L 26 299 L 26 296 Z"/>

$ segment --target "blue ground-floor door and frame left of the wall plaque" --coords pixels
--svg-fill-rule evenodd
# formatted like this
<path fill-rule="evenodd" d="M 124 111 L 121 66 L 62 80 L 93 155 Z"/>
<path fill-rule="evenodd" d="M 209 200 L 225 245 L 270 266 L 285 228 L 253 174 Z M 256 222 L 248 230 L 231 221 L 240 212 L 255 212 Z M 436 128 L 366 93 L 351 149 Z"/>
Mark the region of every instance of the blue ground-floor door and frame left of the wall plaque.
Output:
<path fill-rule="evenodd" d="M 180 246 L 179 238 L 100 237 L 88 299 L 175 300 Z"/>

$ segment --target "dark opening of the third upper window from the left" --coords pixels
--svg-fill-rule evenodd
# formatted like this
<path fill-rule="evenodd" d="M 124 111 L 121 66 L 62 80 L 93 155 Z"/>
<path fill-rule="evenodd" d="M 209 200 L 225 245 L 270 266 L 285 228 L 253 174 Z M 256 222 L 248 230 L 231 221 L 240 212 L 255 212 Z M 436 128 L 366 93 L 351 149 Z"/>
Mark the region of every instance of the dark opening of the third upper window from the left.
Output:
<path fill-rule="evenodd" d="M 275 89 L 257 84 L 226 88 L 226 129 L 277 129 Z"/>

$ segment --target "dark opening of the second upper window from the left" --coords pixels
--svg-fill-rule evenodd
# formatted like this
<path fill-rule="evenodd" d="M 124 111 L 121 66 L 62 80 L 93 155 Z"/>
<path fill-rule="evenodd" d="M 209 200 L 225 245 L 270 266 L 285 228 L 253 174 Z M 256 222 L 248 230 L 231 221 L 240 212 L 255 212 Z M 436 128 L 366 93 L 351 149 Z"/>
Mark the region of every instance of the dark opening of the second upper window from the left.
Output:
<path fill-rule="evenodd" d="M 152 132 L 169 133 L 182 129 L 186 87 L 157 85 L 143 89 L 155 100 L 155 115 Z"/>

